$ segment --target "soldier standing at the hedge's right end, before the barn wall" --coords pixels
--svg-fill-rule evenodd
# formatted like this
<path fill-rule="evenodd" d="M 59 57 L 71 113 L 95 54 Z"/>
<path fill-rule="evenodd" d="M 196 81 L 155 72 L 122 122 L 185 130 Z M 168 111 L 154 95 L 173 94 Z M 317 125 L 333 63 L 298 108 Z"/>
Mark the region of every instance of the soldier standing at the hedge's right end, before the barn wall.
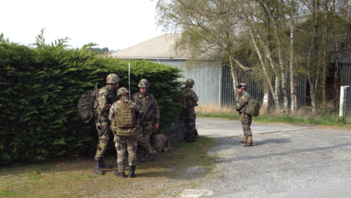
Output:
<path fill-rule="evenodd" d="M 182 91 L 188 93 L 185 96 L 186 108 L 181 112 L 183 120 L 183 137 L 185 142 L 196 142 L 195 140 L 195 106 L 198 106 L 199 98 L 192 90 L 194 87 L 194 80 L 188 78 L 185 81 L 186 85 L 182 88 Z M 197 131 L 197 130 L 196 130 Z"/>

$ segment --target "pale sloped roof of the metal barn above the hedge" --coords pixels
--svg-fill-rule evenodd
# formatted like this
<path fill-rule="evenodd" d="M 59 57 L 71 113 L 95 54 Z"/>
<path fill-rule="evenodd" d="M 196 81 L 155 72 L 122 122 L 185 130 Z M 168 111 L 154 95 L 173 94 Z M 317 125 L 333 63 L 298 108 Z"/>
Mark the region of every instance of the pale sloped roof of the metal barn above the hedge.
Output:
<path fill-rule="evenodd" d="M 174 44 L 180 36 L 181 34 L 163 34 L 135 46 L 114 52 L 109 56 L 116 58 L 188 59 L 190 53 L 178 55 L 173 49 Z M 203 53 L 197 58 L 212 59 L 214 56 L 215 53 L 212 51 Z"/>

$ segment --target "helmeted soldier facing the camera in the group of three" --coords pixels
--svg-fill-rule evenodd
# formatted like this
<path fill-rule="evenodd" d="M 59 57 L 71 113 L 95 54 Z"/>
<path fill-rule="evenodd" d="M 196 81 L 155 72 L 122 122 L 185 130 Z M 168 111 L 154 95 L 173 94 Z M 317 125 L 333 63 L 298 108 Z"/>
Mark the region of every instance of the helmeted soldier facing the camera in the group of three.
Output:
<path fill-rule="evenodd" d="M 135 93 L 132 97 L 140 109 L 141 114 L 141 134 L 138 135 L 138 144 L 141 147 L 140 162 L 151 161 L 157 156 L 157 151 L 150 145 L 150 136 L 152 128 L 159 129 L 160 111 L 155 96 L 148 92 L 149 82 L 142 79 L 138 84 L 139 93 Z M 155 127 L 152 127 L 155 122 Z M 148 157 L 146 155 L 148 154 Z"/>

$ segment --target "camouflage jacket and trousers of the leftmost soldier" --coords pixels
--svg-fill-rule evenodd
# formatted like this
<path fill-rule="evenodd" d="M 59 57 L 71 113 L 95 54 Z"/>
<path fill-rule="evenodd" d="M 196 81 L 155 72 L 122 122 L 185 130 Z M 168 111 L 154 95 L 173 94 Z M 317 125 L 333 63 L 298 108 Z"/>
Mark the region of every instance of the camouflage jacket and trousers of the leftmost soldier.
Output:
<path fill-rule="evenodd" d="M 113 90 L 107 85 L 98 90 L 98 117 L 95 120 L 96 129 L 98 130 L 99 143 L 95 154 L 95 160 L 101 160 L 109 142 L 109 125 L 107 118 L 109 108 L 115 102 Z"/>

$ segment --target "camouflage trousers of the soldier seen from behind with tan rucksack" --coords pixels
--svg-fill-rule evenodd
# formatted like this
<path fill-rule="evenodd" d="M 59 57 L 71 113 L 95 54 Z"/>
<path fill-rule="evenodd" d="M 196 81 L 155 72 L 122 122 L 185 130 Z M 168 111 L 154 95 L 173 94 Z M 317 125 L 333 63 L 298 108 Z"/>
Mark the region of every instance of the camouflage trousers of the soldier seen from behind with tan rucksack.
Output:
<path fill-rule="evenodd" d="M 116 134 L 114 135 L 115 135 L 114 142 L 117 150 L 118 172 L 124 172 L 125 162 L 127 160 L 127 153 L 128 153 L 129 166 L 137 165 L 137 149 L 138 149 L 137 136 L 120 137 L 120 136 L 117 136 Z"/>

